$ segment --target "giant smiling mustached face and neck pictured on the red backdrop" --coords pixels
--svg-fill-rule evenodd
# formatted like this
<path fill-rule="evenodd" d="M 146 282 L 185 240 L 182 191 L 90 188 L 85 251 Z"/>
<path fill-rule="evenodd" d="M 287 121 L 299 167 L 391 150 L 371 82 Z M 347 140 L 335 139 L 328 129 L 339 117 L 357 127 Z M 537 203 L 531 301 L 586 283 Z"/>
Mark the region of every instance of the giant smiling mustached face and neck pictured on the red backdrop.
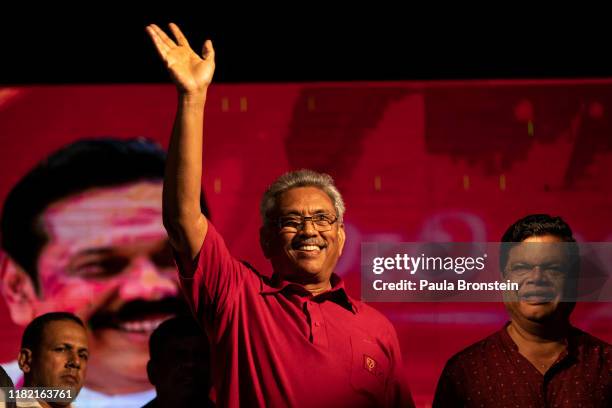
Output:
<path fill-rule="evenodd" d="M 79 316 L 92 333 L 93 389 L 149 388 L 149 336 L 181 305 L 161 190 L 161 182 L 87 190 L 40 217 L 48 236 L 38 260 L 40 291 L 29 298 L 30 312 L 13 319 L 25 325 L 50 311 Z"/>

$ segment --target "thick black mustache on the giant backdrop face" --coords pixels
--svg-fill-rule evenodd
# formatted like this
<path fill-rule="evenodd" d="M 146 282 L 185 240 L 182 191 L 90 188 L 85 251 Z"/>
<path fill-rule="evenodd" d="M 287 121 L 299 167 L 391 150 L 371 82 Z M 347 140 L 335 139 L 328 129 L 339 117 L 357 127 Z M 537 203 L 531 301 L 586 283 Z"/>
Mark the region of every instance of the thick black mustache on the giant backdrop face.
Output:
<path fill-rule="evenodd" d="M 154 315 L 189 315 L 187 303 L 180 297 L 166 297 L 160 300 L 132 300 L 116 311 L 99 311 L 89 319 L 92 329 L 117 327 L 126 321 L 138 321 Z"/>

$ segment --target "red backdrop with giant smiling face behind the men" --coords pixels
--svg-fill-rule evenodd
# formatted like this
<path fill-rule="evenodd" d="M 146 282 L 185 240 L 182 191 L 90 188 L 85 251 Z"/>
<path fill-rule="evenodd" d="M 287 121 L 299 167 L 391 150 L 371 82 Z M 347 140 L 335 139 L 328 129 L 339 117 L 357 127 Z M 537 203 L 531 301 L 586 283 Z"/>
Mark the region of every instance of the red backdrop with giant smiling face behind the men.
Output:
<path fill-rule="evenodd" d="M 170 85 L 1 88 L 0 202 L 38 162 L 77 140 L 145 137 L 165 149 L 175 100 Z M 204 192 L 233 255 L 269 274 L 258 244 L 266 186 L 292 169 L 332 175 L 347 206 L 336 273 L 359 297 L 363 242 L 495 242 L 530 213 L 563 217 L 580 242 L 612 241 L 611 109 L 610 81 L 215 85 Z M 73 311 L 94 329 L 96 319 L 127 315 L 94 332 L 86 386 L 108 391 L 96 379 L 123 371 L 135 389 L 150 389 L 148 334 L 178 294 L 160 181 L 88 190 L 45 207 L 36 222 L 47 240 L 36 255 L 35 307 L 17 308 L 3 283 L 0 360 L 15 360 L 28 313 Z M 126 264 L 156 262 L 127 273 L 78 258 L 100 246 L 122 248 Z M 372 306 L 398 332 L 417 405 L 431 401 L 450 356 L 508 320 L 498 302 Z M 612 341 L 608 303 L 578 304 L 572 322 Z"/>

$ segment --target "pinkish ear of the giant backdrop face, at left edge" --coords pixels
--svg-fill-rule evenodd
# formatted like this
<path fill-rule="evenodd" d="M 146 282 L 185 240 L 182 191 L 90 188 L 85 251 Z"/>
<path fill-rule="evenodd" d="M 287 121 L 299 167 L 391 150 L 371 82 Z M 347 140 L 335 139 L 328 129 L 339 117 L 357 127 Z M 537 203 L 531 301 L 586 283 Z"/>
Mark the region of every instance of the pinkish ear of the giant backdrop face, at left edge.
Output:
<path fill-rule="evenodd" d="M 34 282 L 15 261 L 3 254 L 0 263 L 1 290 L 13 322 L 26 326 L 36 316 L 38 302 Z"/>

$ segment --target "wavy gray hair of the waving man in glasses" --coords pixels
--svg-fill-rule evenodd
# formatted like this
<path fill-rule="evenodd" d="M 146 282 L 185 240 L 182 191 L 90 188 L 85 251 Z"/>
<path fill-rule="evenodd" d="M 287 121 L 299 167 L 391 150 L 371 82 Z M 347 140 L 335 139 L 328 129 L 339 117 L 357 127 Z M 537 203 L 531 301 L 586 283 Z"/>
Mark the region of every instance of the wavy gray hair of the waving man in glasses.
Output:
<path fill-rule="evenodd" d="M 342 222 L 346 208 L 342 195 L 334 184 L 334 179 L 329 174 L 302 169 L 283 174 L 268 187 L 259 205 L 259 213 L 264 225 L 270 221 L 269 216 L 276 207 L 277 198 L 285 191 L 297 187 L 316 187 L 325 192 L 334 204 L 338 221 Z"/>

